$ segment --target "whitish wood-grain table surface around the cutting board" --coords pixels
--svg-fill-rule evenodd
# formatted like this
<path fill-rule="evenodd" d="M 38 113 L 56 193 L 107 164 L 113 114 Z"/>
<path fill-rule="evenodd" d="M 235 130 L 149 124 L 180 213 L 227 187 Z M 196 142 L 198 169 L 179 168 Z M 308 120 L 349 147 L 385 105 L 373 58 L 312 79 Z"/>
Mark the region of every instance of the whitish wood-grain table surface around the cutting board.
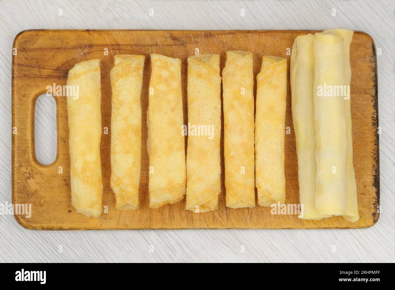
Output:
<path fill-rule="evenodd" d="M 0 204 L 11 202 L 11 52 L 13 39 L 20 31 L 342 27 L 367 32 L 382 50 L 377 58 L 382 127 L 380 219 L 362 230 L 32 231 L 19 226 L 12 215 L 0 215 L 0 262 L 395 261 L 393 0 L 102 2 L 106 1 L 0 0 Z M 62 9 L 62 16 L 58 9 Z M 153 16 L 149 15 L 150 9 L 154 9 Z M 245 9 L 245 16 L 240 15 L 241 9 Z M 332 15 L 333 9 L 336 16 Z M 49 121 L 38 122 L 48 126 Z M 42 150 L 41 154 L 48 153 Z M 58 251 L 59 246 L 62 251 Z"/>

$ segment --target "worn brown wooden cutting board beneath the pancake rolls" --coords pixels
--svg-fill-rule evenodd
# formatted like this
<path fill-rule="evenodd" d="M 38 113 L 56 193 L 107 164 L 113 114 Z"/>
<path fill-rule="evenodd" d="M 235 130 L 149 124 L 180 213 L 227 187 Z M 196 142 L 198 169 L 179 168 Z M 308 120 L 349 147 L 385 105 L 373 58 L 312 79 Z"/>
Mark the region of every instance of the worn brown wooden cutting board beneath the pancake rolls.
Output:
<path fill-rule="evenodd" d="M 165 31 L 165 30 L 28 30 L 15 37 L 12 57 L 12 202 L 32 204 L 32 215 L 15 215 L 30 229 L 149 229 L 149 228 L 366 228 L 378 220 L 379 150 L 378 93 L 376 49 L 371 36 L 355 32 L 351 43 L 351 109 L 354 166 L 361 218 L 352 224 L 342 217 L 320 221 L 303 221 L 297 215 L 272 215 L 271 208 L 230 209 L 225 206 L 223 129 L 221 136 L 222 193 L 219 209 L 208 213 L 186 211 L 185 199 L 179 203 L 149 208 L 147 153 L 147 106 L 150 79 L 150 53 L 182 59 L 182 101 L 187 122 L 187 58 L 195 54 L 220 54 L 221 70 L 227 50 L 254 52 L 254 77 L 261 67 L 263 55 L 286 57 L 295 37 L 316 31 Z M 105 55 L 106 49 L 108 55 Z M 109 72 L 116 54 L 144 54 L 142 109 L 142 146 L 140 208 L 115 209 L 115 196 L 110 187 L 111 84 Z M 66 97 L 55 97 L 57 106 L 57 157 L 51 165 L 38 163 L 34 153 L 34 107 L 36 98 L 46 87 L 66 85 L 67 75 L 75 63 L 100 58 L 102 77 L 101 158 L 103 170 L 103 206 L 108 213 L 100 218 L 85 217 L 71 206 L 70 157 Z M 256 90 L 256 82 L 255 82 Z M 224 126 L 222 116 L 222 128 Z M 287 81 L 285 135 L 286 203 L 299 203 L 295 133 L 292 125 L 291 91 Z M 63 173 L 58 173 L 62 167 Z"/>

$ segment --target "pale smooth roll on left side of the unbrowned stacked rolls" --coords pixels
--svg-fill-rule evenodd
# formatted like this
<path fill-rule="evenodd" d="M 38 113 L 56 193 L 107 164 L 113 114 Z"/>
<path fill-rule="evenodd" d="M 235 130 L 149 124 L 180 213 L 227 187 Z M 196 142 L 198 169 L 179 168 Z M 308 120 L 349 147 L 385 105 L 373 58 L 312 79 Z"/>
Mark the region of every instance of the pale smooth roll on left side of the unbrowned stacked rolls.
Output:
<path fill-rule="evenodd" d="M 290 63 L 292 120 L 298 161 L 301 219 L 322 219 L 316 210 L 316 142 L 314 129 L 314 35 L 296 37 Z"/>

